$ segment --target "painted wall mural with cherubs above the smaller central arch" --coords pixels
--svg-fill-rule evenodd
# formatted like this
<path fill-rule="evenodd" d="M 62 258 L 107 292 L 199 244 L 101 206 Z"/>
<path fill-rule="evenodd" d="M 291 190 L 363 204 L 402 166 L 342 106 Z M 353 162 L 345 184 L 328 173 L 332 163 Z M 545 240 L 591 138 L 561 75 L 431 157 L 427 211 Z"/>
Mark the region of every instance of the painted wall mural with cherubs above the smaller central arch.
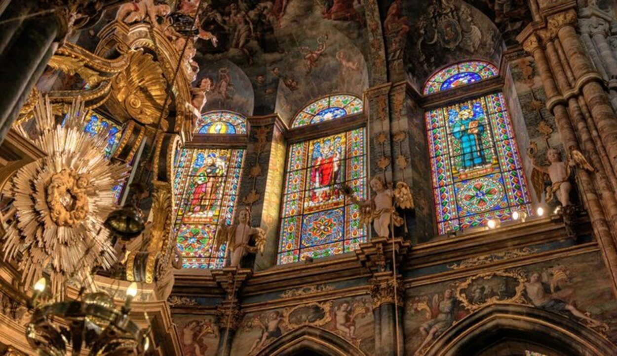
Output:
<path fill-rule="evenodd" d="M 299 304 L 283 309 L 247 314 L 236 331 L 232 355 L 254 355 L 264 346 L 305 325 L 330 331 L 359 347 L 375 353 L 373 312 L 370 297 L 334 299 Z"/>

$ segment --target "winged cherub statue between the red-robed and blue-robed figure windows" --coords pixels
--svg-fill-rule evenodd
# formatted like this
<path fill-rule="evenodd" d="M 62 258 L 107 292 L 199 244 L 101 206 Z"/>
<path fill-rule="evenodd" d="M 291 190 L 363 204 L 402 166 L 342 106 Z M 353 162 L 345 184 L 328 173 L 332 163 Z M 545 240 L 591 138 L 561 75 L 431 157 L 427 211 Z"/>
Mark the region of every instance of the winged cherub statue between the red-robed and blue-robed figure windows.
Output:
<path fill-rule="evenodd" d="M 373 228 L 379 237 L 387 237 L 389 235 L 389 226 L 392 222 L 394 226 L 403 224 L 402 217 L 399 216 L 395 209 L 408 208 L 413 206 L 413 199 L 409 187 L 405 182 L 398 182 L 396 189 L 386 187 L 381 176 L 376 176 L 370 181 L 371 188 L 375 191 L 375 196 L 372 198 L 360 201 L 351 193 L 347 196 L 354 204 L 360 206 L 360 220 L 363 224 L 368 225 L 373 222 Z M 349 187 L 344 188 L 344 191 L 349 192 Z M 394 201 L 392 201 L 394 198 Z"/>

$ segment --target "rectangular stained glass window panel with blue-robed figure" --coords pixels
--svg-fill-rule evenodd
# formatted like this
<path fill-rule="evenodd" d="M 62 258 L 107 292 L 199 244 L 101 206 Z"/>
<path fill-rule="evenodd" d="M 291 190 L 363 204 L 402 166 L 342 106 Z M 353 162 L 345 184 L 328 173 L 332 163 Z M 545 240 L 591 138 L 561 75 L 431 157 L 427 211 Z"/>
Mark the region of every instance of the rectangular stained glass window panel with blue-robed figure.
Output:
<path fill-rule="evenodd" d="M 501 93 L 431 110 L 425 118 L 440 234 L 529 211 L 531 198 Z"/>

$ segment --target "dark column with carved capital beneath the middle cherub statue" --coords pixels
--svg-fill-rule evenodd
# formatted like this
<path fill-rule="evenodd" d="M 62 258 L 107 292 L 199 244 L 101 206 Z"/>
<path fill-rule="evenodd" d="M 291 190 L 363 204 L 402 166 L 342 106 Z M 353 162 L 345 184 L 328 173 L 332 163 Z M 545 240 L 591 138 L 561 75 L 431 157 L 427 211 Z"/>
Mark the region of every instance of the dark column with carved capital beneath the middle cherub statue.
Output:
<path fill-rule="evenodd" d="M 374 238 L 360 245 L 355 253 L 373 278 L 370 294 L 375 318 L 375 354 L 404 355 L 403 333 L 404 294 L 397 273 L 398 265 L 410 250 L 409 241 L 402 238 Z"/>

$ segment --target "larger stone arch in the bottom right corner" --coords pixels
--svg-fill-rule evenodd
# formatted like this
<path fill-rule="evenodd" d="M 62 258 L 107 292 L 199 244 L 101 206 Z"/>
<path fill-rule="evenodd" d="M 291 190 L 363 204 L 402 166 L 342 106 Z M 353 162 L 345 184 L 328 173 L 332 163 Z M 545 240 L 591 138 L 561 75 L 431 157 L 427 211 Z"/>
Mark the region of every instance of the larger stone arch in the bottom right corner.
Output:
<path fill-rule="evenodd" d="M 478 345 L 518 339 L 565 355 L 614 355 L 617 347 L 596 331 L 563 315 L 528 305 L 494 304 L 456 323 L 426 351 L 426 356 L 474 355 Z"/>

